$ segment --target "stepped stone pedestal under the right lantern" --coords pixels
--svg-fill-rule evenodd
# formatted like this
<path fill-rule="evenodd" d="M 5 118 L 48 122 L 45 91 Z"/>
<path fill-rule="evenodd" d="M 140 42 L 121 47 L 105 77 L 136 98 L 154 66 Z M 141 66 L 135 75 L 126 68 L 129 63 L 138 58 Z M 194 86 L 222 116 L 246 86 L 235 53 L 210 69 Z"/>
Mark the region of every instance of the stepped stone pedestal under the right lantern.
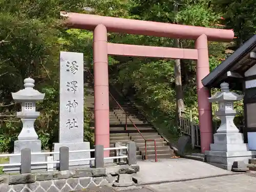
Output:
<path fill-rule="evenodd" d="M 234 161 L 244 161 L 256 156 L 256 151 L 249 151 L 248 144 L 244 143 L 242 133 L 217 133 L 214 134 L 214 144 L 210 151 L 205 151 L 206 162 L 231 170 Z"/>

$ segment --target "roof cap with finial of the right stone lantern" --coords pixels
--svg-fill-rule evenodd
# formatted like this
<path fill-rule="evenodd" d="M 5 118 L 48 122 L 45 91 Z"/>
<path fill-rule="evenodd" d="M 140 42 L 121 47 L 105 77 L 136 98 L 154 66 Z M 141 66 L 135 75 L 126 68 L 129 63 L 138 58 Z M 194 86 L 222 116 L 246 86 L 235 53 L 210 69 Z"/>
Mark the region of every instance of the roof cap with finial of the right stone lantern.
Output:
<path fill-rule="evenodd" d="M 227 82 L 221 83 L 220 86 L 221 92 L 218 92 L 214 96 L 208 98 L 209 102 L 239 101 L 243 99 L 243 95 L 229 91 L 229 84 Z"/>

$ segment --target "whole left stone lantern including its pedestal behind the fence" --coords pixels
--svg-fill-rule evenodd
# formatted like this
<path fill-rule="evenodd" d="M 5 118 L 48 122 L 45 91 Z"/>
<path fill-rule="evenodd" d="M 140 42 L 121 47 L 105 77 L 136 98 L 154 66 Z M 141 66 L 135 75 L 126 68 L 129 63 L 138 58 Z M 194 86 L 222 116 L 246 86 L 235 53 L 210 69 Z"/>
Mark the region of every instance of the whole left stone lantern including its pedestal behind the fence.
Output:
<path fill-rule="evenodd" d="M 22 103 L 22 111 L 17 112 L 17 117 L 23 122 L 18 140 L 14 141 L 14 154 L 19 154 L 23 148 L 30 148 L 31 153 L 41 152 L 41 141 L 34 128 L 34 122 L 39 116 L 39 112 L 35 111 L 35 103 L 43 100 L 45 94 L 34 90 L 34 83 L 34 79 L 26 78 L 24 80 L 25 89 L 12 93 L 14 101 Z M 45 155 L 32 155 L 31 161 L 45 161 Z M 10 163 L 20 163 L 20 156 L 10 157 Z"/>

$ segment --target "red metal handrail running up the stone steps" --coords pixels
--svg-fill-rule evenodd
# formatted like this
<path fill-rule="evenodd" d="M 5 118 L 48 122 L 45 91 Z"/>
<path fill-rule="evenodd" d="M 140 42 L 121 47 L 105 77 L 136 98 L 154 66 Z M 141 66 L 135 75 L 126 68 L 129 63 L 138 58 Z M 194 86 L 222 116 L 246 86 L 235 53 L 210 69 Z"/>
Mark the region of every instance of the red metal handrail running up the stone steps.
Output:
<path fill-rule="evenodd" d="M 90 75 L 94 78 L 93 74 L 91 73 L 90 70 L 88 70 Z M 127 116 L 127 113 L 123 110 L 122 106 L 118 103 L 118 101 L 115 99 L 115 97 L 109 92 L 110 96 L 112 97 L 112 99 L 114 99 L 114 101 L 117 103 L 117 105 L 119 106 L 119 108 L 123 111 L 123 113 L 125 114 L 125 131 L 127 131 L 127 118 L 131 121 L 131 123 L 133 124 L 133 126 L 135 127 L 135 129 L 139 132 L 139 134 L 141 135 L 141 137 L 144 139 L 145 141 L 145 160 L 147 160 L 147 151 L 146 151 L 146 142 L 147 141 L 154 141 L 154 145 L 155 145 L 155 162 L 157 162 L 157 146 L 156 146 L 156 139 L 145 139 L 145 137 L 142 135 L 142 133 L 140 132 L 140 130 L 138 129 L 138 127 L 134 124 L 134 122 L 132 121 L 132 119 L 130 119 L 129 116 Z"/>

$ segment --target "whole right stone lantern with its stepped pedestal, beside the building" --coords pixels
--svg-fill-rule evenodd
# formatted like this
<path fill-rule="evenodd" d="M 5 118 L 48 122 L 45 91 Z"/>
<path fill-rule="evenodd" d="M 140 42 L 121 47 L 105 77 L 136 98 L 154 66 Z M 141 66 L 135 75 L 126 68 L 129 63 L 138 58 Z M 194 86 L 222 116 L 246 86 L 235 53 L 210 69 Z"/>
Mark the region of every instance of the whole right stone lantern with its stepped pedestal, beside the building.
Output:
<path fill-rule="evenodd" d="M 229 92 L 229 84 L 221 83 L 221 92 L 209 98 L 209 102 L 219 102 L 216 115 L 221 119 L 221 125 L 214 134 L 214 143 L 210 144 L 210 151 L 205 151 L 206 161 L 210 164 L 231 170 L 234 161 L 248 160 L 256 155 L 248 150 L 244 143 L 243 134 L 233 123 L 237 112 L 233 109 L 233 102 L 242 100 L 243 96 Z"/>

